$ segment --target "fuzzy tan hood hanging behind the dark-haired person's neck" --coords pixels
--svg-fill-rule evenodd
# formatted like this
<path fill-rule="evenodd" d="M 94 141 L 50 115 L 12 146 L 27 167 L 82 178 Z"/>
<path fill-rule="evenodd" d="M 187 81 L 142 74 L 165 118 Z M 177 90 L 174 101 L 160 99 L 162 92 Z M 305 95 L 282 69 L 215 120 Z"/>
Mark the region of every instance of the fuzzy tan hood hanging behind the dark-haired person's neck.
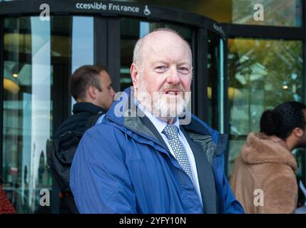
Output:
<path fill-rule="evenodd" d="M 297 161 L 283 140 L 262 133 L 250 133 L 241 148 L 241 156 L 247 164 L 280 163 L 297 170 Z"/>

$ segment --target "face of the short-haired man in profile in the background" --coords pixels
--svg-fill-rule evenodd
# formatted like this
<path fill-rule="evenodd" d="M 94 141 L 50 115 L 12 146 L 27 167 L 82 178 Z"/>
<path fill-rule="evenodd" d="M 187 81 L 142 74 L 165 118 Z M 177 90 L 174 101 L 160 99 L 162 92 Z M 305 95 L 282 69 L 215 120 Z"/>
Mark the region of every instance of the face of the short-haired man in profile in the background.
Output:
<path fill-rule="evenodd" d="M 99 81 L 102 91 L 98 90 L 97 92 L 96 104 L 108 110 L 115 97 L 115 91 L 111 87 L 111 77 L 106 73 L 106 71 L 101 71 Z"/>

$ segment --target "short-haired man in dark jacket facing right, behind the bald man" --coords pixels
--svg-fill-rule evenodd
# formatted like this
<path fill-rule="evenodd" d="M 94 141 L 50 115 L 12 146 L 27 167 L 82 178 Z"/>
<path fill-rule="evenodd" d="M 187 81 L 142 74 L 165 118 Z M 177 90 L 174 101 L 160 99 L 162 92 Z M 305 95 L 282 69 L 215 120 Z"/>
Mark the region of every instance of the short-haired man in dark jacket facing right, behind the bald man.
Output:
<path fill-rule="evenodd" d="M 61 190 L 60 212 L 78 213 L 69 187 L 71 162 L 85 131 L 101 122 L 113 103 L 115 91 L 105 67 L 81 66 L 69 80 L 69 93 L 76 100 L 73 115 L 58 128 L 53 137 L 49 165 Z"/>

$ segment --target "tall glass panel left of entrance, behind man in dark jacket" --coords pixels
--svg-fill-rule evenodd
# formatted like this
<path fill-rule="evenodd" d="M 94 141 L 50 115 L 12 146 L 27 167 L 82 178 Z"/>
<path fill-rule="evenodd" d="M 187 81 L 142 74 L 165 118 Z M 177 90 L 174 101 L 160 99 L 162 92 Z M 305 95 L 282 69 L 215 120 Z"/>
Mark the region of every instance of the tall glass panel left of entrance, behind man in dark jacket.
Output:
<path fill-rule="evenodd" d="M 49 213 L 56 204 L 41 207 L 40 191 L 54 191 L 46 161 L 52 135 L 70 109 L 71 68 L 93 63 L 92 21 L 72 16 L 4 19 L 2 177 L 18 213 Z M 84 24 L 86 36 L 78 27 Z"/>

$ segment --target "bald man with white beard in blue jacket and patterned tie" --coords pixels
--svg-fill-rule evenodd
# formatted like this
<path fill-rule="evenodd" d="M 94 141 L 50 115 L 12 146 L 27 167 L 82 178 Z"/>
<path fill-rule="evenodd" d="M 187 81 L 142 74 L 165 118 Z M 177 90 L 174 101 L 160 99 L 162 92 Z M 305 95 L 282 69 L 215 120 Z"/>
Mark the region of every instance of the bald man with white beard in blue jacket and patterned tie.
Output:
<path fill-rule="evenodd" d="M 224 172 L 226 136 L 190 113 L 192 54 L 160 28 L 136 43 L 133 87 L 76 150 L 81 213 L 243 213 Z"/>

